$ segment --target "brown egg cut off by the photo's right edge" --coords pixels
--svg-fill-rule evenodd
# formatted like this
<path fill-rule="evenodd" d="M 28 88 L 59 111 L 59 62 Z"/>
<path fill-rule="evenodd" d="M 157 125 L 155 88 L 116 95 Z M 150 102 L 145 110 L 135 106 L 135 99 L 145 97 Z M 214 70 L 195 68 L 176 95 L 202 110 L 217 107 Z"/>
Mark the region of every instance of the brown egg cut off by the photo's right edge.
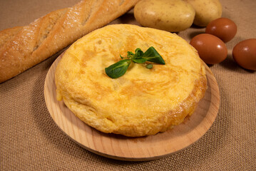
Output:
<path fill-rule="evenodd" d="M 237 43 L 233 48 L 232 55 L 239 66 L 256 71 L 256 38 Z"/>

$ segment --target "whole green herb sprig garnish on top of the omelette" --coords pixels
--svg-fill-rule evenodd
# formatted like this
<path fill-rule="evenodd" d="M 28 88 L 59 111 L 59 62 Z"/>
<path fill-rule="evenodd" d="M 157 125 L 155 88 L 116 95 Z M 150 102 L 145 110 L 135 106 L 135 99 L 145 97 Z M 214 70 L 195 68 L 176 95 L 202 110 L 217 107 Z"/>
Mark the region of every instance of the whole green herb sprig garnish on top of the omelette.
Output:
<path fill-rule="evenodd" d="M 160 56 L 158 51 L 156 51 L 155 48 L 153 48 L 153 46 L 148 48 L 148 50 L 145 51 L 145 53 L 143 53 L 143 51 L 141 51 L 140 48 L 136 48 L 135 53 L 128 51 L 127 57 L 123 57 L 120 55 L 120 58 L 121 61 L 118 61 L 117 63 L 108 66 L 108 68 L 105 68 L 105 72 L 110 78 L 118 78 L 123 76 L 128 70 L 131 61 L 133 61 L 134 63 L 145 63 L 146 61 L 149 61 L 165 65 L 165 61 L 163 61 L 162 56 Z M 148 64 L 145 67 L 150 69 L 153 68 L 153 65 Z"/>

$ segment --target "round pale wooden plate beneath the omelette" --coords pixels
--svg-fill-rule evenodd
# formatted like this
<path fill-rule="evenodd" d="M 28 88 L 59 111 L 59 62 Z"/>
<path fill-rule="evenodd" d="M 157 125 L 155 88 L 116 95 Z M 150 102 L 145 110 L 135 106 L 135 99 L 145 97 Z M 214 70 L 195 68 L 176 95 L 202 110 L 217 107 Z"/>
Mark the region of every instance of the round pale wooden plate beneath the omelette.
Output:
<path fill-rule="evenodd" d="M 188 147 L 201 138 L 213 125 L 220 105 L 220 93 L 213 73 L 208 66 L 206 76 L 208 89 L 200 100 L 198 108 L 184 123 L 165 133 L 158 133 L 142 138 L 127 138 L 123 135 L 101 133 L 78 119 L 63 101 L 56 100 L 54 73 L 59 56 L 46 76 L 44 96 L 46 106 L 58 127 L 69 138 L 91 152 L 117 160 L 144 161 L 168 156 Z"/>

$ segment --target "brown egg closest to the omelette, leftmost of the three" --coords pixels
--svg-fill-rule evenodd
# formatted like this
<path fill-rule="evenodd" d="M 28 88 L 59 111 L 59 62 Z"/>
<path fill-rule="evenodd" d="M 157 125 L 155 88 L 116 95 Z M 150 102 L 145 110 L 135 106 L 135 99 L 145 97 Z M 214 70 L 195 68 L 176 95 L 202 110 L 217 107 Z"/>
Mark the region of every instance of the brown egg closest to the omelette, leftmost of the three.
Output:
<path fill-rule="evenodd" d="M 198 51 L 200 58 L 207 64 L 220 63 L 227 58 L 225 43 L 208 33 L 198 34 L 190 41 L 190 44 Z"/>

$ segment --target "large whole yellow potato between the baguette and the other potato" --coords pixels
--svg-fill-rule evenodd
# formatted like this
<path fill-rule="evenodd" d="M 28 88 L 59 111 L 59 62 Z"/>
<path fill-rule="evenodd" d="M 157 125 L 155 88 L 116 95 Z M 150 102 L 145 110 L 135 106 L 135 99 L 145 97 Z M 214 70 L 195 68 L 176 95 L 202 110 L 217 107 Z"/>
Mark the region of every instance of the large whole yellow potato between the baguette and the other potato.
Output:
<path fill-rule="evenodd" d="M 178 32 L 193 24 L 195 10 L 183 0 L 142 0 L 134 7 L 134 16 L 142 26 Z"/>

